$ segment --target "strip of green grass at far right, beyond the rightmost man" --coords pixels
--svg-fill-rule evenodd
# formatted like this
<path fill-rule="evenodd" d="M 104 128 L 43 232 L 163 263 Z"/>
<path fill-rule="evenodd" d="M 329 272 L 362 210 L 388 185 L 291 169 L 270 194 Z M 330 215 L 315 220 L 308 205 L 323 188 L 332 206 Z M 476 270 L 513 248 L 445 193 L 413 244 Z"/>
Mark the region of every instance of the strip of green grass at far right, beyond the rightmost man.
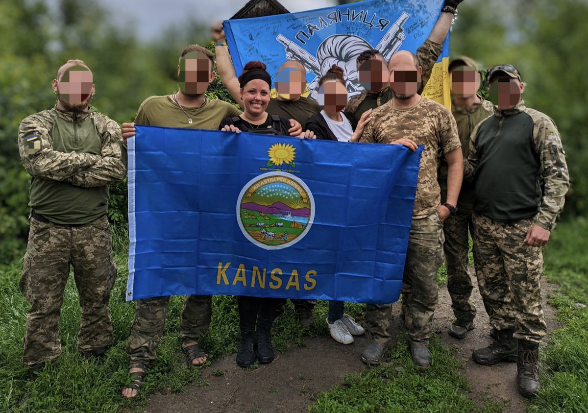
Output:
<path fill-rule="evenodd" d="M 547 279 L 560 285 L 550 304 L 562 328 L 541 357 L 539 395 L 528 411 L 588 412 L 588 220 L 560 224 L 545 248 Z"/>

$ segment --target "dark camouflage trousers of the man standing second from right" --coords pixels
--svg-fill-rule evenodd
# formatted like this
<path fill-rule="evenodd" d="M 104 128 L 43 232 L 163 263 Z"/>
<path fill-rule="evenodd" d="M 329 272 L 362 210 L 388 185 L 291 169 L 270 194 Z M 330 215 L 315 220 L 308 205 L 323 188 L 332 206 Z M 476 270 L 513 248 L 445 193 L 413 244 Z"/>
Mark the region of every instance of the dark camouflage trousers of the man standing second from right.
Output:
<path fill-rule="evenodd" d="M 466 324 L 476 317 L 476 306 L 472 299 L 472 278 L 468 269 L 468 230 L 473 236 L 472 214 L 462 214 L 458 211 L 443 222 L 447 291 L 451 297 L 453 314 L 457 320 Z"/>

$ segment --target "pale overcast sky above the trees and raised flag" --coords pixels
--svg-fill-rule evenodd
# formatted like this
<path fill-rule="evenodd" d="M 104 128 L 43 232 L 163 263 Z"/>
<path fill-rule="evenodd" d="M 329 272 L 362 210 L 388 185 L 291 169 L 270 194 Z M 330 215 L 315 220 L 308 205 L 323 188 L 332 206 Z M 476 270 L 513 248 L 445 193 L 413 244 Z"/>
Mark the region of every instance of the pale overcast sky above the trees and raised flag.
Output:
<path fill-rule="evenodd" d="M 55 4 L 58 0 L 47 0 Z M 96 0 L 106 6 L 120 23 L 134 20 L 138 35 L 150 40 L 174 22 L 196 19 L 215 22 L 228 19 L 248 0 Z M 334 0 L 279 0 L 288 11 L 319 9 L 335 4 Z"/>

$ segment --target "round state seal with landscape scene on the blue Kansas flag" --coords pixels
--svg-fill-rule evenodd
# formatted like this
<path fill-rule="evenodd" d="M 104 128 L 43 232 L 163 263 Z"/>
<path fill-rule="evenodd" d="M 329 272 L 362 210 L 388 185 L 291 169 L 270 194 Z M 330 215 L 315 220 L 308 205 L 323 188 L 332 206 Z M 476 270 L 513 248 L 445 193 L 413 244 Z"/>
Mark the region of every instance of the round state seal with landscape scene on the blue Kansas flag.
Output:
<path fill-rule="evenodd" d="M 239 228 L 260 248 L 296 244 L 308 234 L 314 218 L 315 201 L 308 185 L 287 172 L 256 176 L 243 186 L 237 200 Z"/>

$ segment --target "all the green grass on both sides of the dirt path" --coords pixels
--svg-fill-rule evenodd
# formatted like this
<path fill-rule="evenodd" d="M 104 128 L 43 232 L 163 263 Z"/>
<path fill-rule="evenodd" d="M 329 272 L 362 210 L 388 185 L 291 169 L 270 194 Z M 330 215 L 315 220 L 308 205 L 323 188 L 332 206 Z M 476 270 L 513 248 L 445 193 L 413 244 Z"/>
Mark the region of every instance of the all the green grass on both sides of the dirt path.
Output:
<path fill-rule="evenodd" d="M 546 248 L 546 275 L 561 285 L 558 295 L 550 299 L 563 327 L 552 333 L 550 344 L 542 353 L 542 389 L 529 407 L 530 412 L 588 411 L 588 309 L 587 303 L 588 221 L 561 224 Z M 115 228 L 113 239 L 119 277 L 111 297 L 115 346 L 103 360 L 86 360 L 76 351 L 76 334 L 80 313 L 75 285 L 66 287 L 60 324 L 63 353 L 31 382 L 22 365 L 22 337 L 28 304 L 18 291 L 21 263 L 16 261 L 0 270 L 0 411 L 71 411 L 112 412 L 135 410 L 145 405 L 154 392 L 181 392 L 188 383 L 208 385 L 201 371 L 189 368 L 183 359 L 178 337 L 182 298 L 172 297 L 166 318 L 165 335 L 158 348 L 158 359 L 146 375 L 138 399 L 125 401 L 119 396 L 121 385 L 128 382 L 126 338 L 135 305 L 125 302 L 126 233 Z M 438 282 L 445 282 L 445 271 L 438 272 Z M 349 304 L 346 312 L 360 317 L 365 306 Z M 319 302 L 315 310 L 315 327 L 310 335 L 328 335 L 323 320 L 328 307 Z M 292 307 L 276 320 L 274 344 L 278 351 L 305 345 Z M 233 297 L 215 297 L 212 324 L 202 338 L 211 358 L 236 351 L 238 314 Z M 462 362 L 449 348 L 433 338 L 433 364 L 427 371 L 417 369 L 409 356 L 406 337 L 401 335 L 386 353 L 386 364 L 346 376 L 345 382 L 320 393 L 312 412 L 339 411 L 427 411 L 427 412 L 500 412 L 504 402 L 492 395 L 475 403 L 469 398 L 470 385 L 460 373 Z M 214 371 L 223 375 L 224 371 Z M 305 391 L 303 386 L 301 392 Z M 251 411 L 259 411 L 252 405 Z"/>

